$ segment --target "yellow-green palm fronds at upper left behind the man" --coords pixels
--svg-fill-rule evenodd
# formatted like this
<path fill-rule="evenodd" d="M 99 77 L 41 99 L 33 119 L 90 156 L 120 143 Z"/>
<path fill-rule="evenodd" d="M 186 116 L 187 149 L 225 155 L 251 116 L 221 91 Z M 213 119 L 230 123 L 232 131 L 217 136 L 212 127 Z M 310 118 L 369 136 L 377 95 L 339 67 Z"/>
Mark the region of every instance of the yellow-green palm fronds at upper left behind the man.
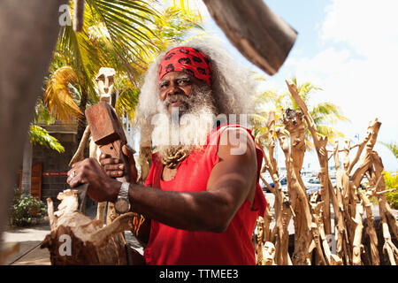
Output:
<path fill-rule="evenodd" d="M 101 66 L 117 72 L 119 116 L 127 112 L 133 118 L 139 78 L 149 62 L 171 42 L 183 39 L 189 29 L 201 28 L 200 15 L 185 3 L 163 12 L 150 4 L 153 1 L 87 0 L 83 31 L 61 28 L 43 101 L 58 119 L 79 119 L 78 140 L 85 128 L 82 113 L 98 101 L 92 78 Z"/>

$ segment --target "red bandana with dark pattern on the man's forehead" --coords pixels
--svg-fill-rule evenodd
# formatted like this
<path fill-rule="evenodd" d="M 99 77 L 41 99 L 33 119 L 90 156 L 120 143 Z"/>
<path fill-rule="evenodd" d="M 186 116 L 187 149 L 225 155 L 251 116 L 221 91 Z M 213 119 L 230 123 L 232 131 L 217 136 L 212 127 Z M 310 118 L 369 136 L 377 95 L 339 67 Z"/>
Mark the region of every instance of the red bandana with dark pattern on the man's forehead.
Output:
<path fill-rule="evenodd" d="M 166 73 L 182 71 L 211 86 L 211 65 L 209 59 L 200 51 L 180 46 L 168 51 L 160 61 L 157 80 Z"/>

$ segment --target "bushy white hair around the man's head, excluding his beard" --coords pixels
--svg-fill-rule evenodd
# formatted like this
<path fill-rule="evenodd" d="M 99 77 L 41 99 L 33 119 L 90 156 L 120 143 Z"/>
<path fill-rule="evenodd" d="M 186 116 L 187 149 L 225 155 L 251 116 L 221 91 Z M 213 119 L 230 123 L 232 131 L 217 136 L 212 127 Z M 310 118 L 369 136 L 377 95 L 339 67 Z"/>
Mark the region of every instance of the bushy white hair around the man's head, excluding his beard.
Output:
<path fill-rule="evenodd" d="M 159 54 L 149 65 L 135 110 L 134 122 L 141 129 L 141 144 L 150 142 L 153 131 L 152 118 L 158 113 L 159 87 L 157 71 L 160 61 L 168 50 L 177 46 L 188 46 L 201 51 L 209 58 L 212 66 L 212 96 L 217 110 L 216 115 L 225 114 L 226 118 L 235 114 L 236 123 L 240 122 L 240 114 L 255 112 L 255 83 L 252 72 L 247 67 L 237 65 L 233 58 L 221 47 L 221 42 L 209 35 L 195 37 L 187 42 L 173 44 Z M 249 119 L 245 119 L 249 122 Z M 233 121 L 234 122 L 234 121 Z M 148 145 L 148 144 L 147 144 Z"/>

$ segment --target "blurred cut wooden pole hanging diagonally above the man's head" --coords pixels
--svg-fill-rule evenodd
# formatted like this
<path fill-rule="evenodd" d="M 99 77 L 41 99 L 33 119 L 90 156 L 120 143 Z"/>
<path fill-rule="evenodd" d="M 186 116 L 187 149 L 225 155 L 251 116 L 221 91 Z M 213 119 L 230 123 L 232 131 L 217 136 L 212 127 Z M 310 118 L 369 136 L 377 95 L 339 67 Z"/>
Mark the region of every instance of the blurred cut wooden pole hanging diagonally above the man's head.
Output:
<path fill-rule="evenodd" d="M 295 44 L 297 32 L 263 0 L 203 0 L 231 43 L 270 75 L 277 73 Z"/>

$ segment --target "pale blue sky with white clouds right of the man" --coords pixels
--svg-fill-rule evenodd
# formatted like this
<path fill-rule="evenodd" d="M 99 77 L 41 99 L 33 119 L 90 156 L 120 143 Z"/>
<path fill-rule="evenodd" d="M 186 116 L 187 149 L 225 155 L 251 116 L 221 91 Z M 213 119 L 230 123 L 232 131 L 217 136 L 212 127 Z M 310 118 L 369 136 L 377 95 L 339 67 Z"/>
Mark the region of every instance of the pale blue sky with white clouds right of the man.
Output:
<path fill-rule="evenodd" d="M 341 107 L 351 120 L 335 127 L 353 144 L 364 137 L 371 119 L 382 125 L 379 141 L 398 141 L 396 68 L 398 66 L 398 1 L 396 0 L 266 0 L 266 4 L 298 32 L 295 46 L 279 73 L 267 78 L 269 88 L 285 91 L 284 80 L 296 75 L 323 88 L 313 103 L 328 101 Z M 198 2 L 204 27 L 210 34 L 226 37 Z M 241 64 L 252 66 L 234 47 L 226 43 Z M 342 146 L 341 140 L 341 146 Z M 397 171 L 398 162 L 384 146 L 375 150 L 385 169 Z M 355 154 L 356 150 L 352 150 Z M 314 154 L 304 164 L 318 167 Z"/>

